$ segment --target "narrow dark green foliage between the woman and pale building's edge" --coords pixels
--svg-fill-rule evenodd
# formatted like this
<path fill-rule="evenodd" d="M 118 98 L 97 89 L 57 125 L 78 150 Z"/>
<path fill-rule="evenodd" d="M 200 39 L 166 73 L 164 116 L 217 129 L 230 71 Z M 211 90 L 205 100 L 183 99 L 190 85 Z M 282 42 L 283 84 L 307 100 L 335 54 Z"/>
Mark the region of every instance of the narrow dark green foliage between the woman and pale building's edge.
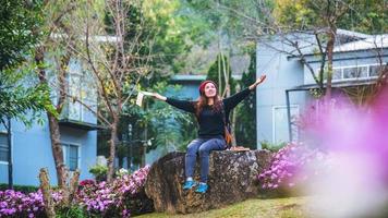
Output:
<path fill-rule="evenodd" d="M 247 72 L 244 72 L 240 87 L 245 88 L 256 80 L 256 52 L 251 53 L 251 63 Z M 240 146 L 256 149 L 256 92 L 246 97 L 237 108 L 235 140 Z"/>

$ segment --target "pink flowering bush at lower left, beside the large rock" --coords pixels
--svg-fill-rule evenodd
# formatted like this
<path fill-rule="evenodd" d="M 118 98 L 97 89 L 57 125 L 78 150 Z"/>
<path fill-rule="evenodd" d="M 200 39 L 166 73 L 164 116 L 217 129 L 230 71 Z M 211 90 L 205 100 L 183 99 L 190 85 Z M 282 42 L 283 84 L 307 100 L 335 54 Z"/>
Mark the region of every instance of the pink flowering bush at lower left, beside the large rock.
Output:
<path fill-rule="evenodd" d="M 57 217 L 130 217 L 151 211 L 153 202 L 144 192 L 148 171 L 149 167 L 132 174 L 122 171 L 112 183 L 81 181 L 71 207 L 63 206 L 61 190 L 53 191 Z M 40 190 L 29 194 L 0 191 L 0 217 L 47 217 Z"/>

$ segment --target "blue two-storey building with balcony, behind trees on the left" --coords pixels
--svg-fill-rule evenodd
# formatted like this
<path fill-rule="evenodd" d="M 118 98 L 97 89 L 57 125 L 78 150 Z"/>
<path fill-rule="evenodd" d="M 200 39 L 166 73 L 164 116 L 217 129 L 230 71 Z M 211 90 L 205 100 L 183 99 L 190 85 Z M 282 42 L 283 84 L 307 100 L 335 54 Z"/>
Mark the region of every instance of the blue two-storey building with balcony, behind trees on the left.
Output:
<path fill-rule="evenodd" d="M 92 108 L 97 107 L 97 94 L 89 75 L 82 63 L 71 60 L 69 64 L 69 94 L 82 99 Z M 50 71 L 48 70 L 48 74 Z M 53 74 L 50 80 L 53 80 Z M 52 92 L 53 100 L 56 89 Z M 45 124 L 34 123 L 27 129 L 22 122 L 11 121 L 11 145 L 8 144 L 4 126 L 0 125 L 0 183 L 8 183 L 8 152 L 12 150 L 13 183 L 16 185 L 38 185 L 40 168 L 47 168 L 51 184 L 57 184 L 57 173 L 51 152 L 50 132 L 45 116 Z M 60 134 L 64 164 L 74 171 L 81 170 L 81 180 L 92 179 L 88 168 L 96 164 L 97 119 L 83 105 L 66 99 L 60 114 Z"/>

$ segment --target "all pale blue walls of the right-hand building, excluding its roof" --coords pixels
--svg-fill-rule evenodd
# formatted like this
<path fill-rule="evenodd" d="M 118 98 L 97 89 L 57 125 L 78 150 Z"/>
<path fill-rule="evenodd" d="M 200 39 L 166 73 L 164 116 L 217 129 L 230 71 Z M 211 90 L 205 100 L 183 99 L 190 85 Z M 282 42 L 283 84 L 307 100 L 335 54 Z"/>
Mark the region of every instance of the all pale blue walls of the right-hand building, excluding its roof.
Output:
<path fill-rule="evenodd" d="M 295 37 L 295 40 L 299 40 L 299 38 Z M 300 47 L 304 47 L 303 40 L 299 40 Z M 289 55 L 280 52 L 291 51 L 292 49 L 293 48 L 289 48 L 277 38 L 257 44 L 256 76 L 258 77 L 262 74 L 267 75 L 266 82 L 259 85 L 256 90 L 258 148 L 260 147 L 259 143 L 263 141 L 277 144 L 281 142 L 278 140 L 278 136 L 280 138 L 289 138 L 287 113 L 282 113 L 287 111 L 286 89 L 315 84 L 306 66 L 296 58 L 290 58 L 288 57 Z M 312 50 L 314 49 L 311 49 L 311 51 Z M 310 52 L 307 50 L 307 52 L 304 53 Z M 334 56 L 334 68 L 343 69 L 344 66 L 376 65 L 379 63 L 379 58 L 386 63 L 388 61 L 388 49 L 336 52 Z M 310 56 L 306 60 L 317 73 L 320 66 L 318 57 Z M 368 66 L 368 69 L 371 68 Z M 344 71 L 342 70 L 340 72 L 343 73 Z M 339 80 L 337 80 L 337 82 Z M 290 92 L 291 113 L 302 113 L 311 99 L 308 92 Z M 279 122 L 282 120 L 283 123 Z M 276 134 L 278 134 L 278 136 Z"/>

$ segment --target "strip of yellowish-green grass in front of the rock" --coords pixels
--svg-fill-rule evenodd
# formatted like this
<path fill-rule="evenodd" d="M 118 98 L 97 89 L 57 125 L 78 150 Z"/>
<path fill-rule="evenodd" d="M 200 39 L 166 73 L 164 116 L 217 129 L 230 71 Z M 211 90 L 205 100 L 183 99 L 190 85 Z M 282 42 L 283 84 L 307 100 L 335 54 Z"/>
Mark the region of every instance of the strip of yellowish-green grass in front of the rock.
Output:
<path fill-rule="evenodd" d="M 266 217 L 266 218 L 304 218 L 304 205 L 307 197 L 284 197 L 269 199 L 247 199 L 220 209 L 190 214 L 169 215 L 163 213 L 153 213 L 138 218 L 226 218 L 226 217 Z"/>

